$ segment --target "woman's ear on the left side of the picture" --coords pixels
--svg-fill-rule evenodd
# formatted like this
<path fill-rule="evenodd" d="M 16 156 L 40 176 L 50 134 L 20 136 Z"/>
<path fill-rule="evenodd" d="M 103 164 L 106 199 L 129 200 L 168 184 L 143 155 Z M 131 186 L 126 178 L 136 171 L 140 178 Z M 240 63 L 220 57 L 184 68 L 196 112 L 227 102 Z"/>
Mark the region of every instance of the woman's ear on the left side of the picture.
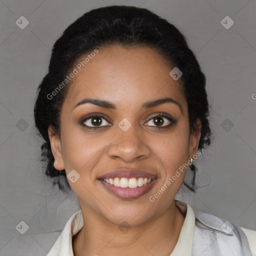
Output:
<path fill-rule="evenodd" d="M 64 169 L 63 157 L 62 157 L 62 146 L 59 135 L 56 135 L 51 125 L 48 127 L 48 136 L 50 140 L 51 152 L 54 156 L 54 167 L 57 170 Z"/>

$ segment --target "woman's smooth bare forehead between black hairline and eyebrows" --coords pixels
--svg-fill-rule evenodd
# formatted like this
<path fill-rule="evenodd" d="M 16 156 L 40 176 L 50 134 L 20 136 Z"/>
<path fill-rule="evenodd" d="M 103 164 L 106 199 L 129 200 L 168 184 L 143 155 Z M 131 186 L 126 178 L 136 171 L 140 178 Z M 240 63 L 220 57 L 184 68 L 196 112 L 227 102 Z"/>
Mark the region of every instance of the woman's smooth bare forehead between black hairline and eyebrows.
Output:
<path fill-rule="evenodd" d="M 113 45 L 88 55 L 74 64 L 77 73 L 68 88 L 67 104 L 74 105 L 84 97 L 100 98 L 116 105 L 162 96 L 185 101 L 180 79 L 174 80 L 169 75 L 174 66 L 152 48 Z"/>

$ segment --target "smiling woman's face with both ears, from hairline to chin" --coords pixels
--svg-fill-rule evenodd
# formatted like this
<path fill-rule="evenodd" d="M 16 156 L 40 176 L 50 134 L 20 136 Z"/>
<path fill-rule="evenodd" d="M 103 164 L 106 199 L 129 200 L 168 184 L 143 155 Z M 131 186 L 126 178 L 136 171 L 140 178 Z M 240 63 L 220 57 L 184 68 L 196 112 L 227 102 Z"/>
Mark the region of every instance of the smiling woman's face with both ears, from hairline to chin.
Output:
<path fill-rule="evenodd" d="M 185 171 L 170 178 L 196 153 L 200 136 L 189 132 L 180 79 L 169 75 L 173 67 L 151 48 L 114 45 L 76 68 L 60 136 L 49 128 L 49 137 L 54 166 L 67 176 L 72 171 L 68 182 L 86 214 L 138 225 L 173 202 Z"/>

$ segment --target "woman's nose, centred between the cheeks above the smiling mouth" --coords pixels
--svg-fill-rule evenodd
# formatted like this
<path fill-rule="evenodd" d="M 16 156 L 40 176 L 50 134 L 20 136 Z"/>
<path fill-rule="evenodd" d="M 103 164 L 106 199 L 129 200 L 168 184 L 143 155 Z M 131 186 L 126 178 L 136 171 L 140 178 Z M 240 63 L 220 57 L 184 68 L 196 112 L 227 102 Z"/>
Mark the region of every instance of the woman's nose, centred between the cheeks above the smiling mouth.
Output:
<path fill-rule="evenodd" d="M 135 130 L 134 125 L 127 131 L 118 130 L 114 140 L 109 145 L 107 153 L 111 158 L 119 158 L 125 163 L 148 158 L 151 154 L 141 132 Z M 117 127 L 117 129 L 119 129 Z"/>

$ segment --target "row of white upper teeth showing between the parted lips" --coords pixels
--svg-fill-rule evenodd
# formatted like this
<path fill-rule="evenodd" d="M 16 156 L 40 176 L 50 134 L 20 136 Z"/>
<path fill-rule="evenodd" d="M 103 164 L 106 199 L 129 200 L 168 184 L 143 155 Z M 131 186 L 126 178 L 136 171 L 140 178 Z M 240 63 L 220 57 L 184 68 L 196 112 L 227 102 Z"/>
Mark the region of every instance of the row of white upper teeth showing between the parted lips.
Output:
<path fill-rule="evenodd" d="M 106 183 L 109 183 L 114 186 L 119 186 L 119 187 L 129 187 L 129 188 L 135 188 L 137 186 L 142 186 L 151 181 L 151 178 L 143 178 L 139 177 L 138 179 L 136 178 L 103 178 L 103 180 Z"/>

